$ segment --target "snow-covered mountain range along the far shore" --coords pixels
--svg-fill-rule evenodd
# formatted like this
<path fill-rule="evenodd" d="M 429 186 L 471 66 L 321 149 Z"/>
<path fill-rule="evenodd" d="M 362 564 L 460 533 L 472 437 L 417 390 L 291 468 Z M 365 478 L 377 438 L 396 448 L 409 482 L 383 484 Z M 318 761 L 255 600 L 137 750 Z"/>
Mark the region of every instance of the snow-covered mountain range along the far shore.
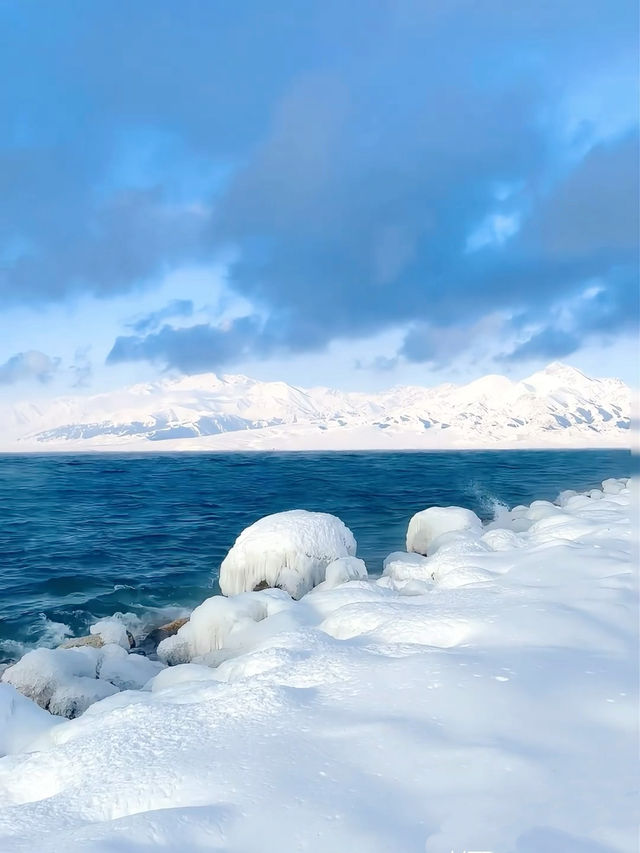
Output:
<path fill-rule="evenodd" d="M 9 450 L 630 446 L 630 391 L 554 363 L 520 382 L 377 394 L 212 373 L 1 412 Z"/>

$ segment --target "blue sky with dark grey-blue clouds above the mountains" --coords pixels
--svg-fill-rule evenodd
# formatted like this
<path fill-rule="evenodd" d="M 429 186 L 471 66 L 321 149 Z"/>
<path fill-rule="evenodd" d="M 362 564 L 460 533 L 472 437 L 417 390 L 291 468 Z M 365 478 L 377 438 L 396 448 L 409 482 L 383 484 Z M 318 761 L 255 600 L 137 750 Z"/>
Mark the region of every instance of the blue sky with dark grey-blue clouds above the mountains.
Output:
<path fill-rule="evenodd" d="M 0 0 L 0 398 L 638 385 L 626 0 Z"/>

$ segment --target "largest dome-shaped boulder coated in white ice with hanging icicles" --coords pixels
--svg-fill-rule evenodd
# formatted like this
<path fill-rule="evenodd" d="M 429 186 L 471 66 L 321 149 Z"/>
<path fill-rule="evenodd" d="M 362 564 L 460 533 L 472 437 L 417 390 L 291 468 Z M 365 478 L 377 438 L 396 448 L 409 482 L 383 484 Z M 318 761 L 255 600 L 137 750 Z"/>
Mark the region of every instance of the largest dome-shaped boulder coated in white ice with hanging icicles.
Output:
<path fill-rule="evenodd" d="M 267 515 L 242 531 L 220 566 L 223 595 L 278 587 L 301 598 L 327 566 L 354 557 L 356 540 L 335 515 L 296 509 Z"/>

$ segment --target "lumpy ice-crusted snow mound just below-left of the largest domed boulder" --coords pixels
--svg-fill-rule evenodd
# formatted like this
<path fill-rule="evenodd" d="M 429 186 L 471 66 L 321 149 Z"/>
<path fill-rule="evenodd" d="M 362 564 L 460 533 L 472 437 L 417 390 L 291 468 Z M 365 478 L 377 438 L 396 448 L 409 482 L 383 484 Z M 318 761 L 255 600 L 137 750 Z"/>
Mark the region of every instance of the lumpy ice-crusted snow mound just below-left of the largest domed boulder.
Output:
<path fill-rule="evenodd" d="M 291 604 L 290 596 L 277 589 L 240 593 L 232 598 L 214 595 L 196 607 L 176 634 L 159 644 L 158 657 L 170 666 L 211 656 L 211 662 L 219 662 L 226 655 L 216 652 L 244 648 L 249 628 Z"/>

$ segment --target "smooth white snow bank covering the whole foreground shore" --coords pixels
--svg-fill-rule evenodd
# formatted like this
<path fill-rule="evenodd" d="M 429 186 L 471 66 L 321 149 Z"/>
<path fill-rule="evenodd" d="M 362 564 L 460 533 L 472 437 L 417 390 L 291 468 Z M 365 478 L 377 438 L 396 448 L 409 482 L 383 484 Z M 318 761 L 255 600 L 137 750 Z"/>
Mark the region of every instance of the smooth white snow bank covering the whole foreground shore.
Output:
<path fill-rule="evenodd" d="M 209 645 L 233 640 L 217 668 L 165 669 L 0 759 L 0 850 L 636 849 L 631 504 L 607 481 L 378 580 L 238 596 L 231 627 L 208 605 Z"/>

